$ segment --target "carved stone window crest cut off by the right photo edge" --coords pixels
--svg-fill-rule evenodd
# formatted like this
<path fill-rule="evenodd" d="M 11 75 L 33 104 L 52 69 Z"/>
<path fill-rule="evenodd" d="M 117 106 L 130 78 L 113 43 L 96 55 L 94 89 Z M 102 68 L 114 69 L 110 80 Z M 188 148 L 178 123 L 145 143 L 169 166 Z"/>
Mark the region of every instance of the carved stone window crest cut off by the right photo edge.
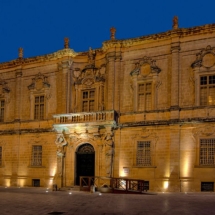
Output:
<path fill-rule="evenodd" d="M 196 67 L 210 68 L 215 65 L 215 47 L 207 46 L 196 54 L 196 60 L 191 64 L 194 69 Z"/>

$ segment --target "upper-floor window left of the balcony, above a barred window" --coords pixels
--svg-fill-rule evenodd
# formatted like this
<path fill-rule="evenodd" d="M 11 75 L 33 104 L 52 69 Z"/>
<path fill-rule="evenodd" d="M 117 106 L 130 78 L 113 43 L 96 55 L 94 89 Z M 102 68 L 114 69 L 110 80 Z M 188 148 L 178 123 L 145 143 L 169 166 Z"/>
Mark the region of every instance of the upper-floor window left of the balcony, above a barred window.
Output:
<path fill-rule="evenodd" d="M 44 119 L 45 101 L 44 96 L 35 96 L 34 119 Z"/>

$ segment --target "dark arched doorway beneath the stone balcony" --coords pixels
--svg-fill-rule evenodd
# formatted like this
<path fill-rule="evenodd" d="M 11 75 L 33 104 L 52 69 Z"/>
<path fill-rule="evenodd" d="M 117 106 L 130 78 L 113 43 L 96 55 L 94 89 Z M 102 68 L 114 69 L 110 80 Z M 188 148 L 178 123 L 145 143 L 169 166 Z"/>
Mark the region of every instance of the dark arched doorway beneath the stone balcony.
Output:
<path fill-rule="evenodd" d="M 85 143 L 76 151 L 76 180 L 80 185 L 80 176 L 94 176 L 95 174 L 95 151 L 91 144 Z"/>

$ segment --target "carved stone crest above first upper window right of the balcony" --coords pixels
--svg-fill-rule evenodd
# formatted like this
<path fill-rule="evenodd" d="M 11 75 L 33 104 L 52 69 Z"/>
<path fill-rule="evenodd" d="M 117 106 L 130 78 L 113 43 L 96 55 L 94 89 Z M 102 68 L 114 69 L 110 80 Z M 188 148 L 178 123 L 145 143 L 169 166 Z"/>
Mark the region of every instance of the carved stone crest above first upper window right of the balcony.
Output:
<path fill-rule="evenodd" d="M 160 73 L 161 69 L 155 64 L 156 61 L 150 57 L 144 57 L 139 62 L 135 63 L 135 68 L 131 71 L 130 75 L 138 77 L 147 77 L 149 74 Z"/>

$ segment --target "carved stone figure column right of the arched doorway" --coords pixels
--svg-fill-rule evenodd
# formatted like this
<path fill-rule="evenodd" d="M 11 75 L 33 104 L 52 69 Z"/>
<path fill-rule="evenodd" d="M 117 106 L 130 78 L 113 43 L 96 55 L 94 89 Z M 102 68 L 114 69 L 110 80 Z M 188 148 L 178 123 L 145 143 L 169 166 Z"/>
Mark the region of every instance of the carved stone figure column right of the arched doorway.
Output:
<path fill-rule="evenodd" d="M 105 141 L 105 164 L 106 164 L 106 175 L 111 177 L 112 166 L 113 166 L 113 155 L 114 155 L 114 141 L 113 132 L 107 133 L 104 137 Z"/>

